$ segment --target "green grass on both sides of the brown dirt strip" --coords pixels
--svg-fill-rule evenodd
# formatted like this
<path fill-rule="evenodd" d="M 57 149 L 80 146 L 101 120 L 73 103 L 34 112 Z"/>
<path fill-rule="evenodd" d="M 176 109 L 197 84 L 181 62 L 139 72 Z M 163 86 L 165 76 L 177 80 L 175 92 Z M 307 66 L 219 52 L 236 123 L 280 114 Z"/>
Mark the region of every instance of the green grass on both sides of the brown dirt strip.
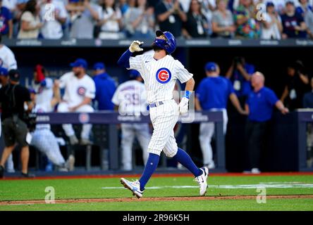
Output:
<path fill-rule="evenodd" d="M 313 184 L 313 176 L 211 176 L 209 185 L 247 185 L 269 182 L 299 182 Z M 130 198 L 118 178 L 112 179 L 47 179 L 0 181 L 0 200 L 44 200 L 45 188 L 53 186 L 57 199 Z M 144 197 L 198 196 L 198 188 L 161 188 L 152 186 L 197 186 L 192 177 L 152 178 Z M 209 188 L 208 196 L 255 195 L 257 190 L 241 188 Z M 313 195 L 313 188 L 266 188 L 266 195 Z M 268 199 L 266 204 L 256 200 L 190 200 L 127 203 L 70 203 L 54 205 L 0 205 L 0 210 L 313 210 L 312 198 Z"/>

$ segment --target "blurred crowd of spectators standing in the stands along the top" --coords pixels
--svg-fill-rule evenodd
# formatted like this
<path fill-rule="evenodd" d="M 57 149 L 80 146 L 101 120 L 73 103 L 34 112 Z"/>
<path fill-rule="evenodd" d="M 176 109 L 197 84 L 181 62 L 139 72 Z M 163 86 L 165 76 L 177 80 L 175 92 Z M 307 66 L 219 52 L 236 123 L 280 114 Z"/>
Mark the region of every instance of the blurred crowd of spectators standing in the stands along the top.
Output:
<path fill-rule="evenodd" d="M 313 38 L 313 0 L 0 0 L 18 39 Z"/>

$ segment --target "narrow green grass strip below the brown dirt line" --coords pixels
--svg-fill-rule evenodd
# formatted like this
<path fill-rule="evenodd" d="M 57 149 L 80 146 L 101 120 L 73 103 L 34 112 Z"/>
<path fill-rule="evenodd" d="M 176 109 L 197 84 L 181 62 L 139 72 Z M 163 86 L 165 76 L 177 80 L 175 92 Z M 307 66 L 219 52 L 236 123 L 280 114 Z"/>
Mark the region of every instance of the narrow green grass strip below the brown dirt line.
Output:
<path fill-rule="evenodd" d="M 302 210 L 312 211 L 313 199 L 270 199 L 265 204 L 256 200 L 197 200 L 179 202 L 130 202 L 130 203 L 71 203 L 47 205 L 9 205 L 0 206 L 0 210 L 105 210 L 105 211 L 225 211 L 225 210 Z"/>

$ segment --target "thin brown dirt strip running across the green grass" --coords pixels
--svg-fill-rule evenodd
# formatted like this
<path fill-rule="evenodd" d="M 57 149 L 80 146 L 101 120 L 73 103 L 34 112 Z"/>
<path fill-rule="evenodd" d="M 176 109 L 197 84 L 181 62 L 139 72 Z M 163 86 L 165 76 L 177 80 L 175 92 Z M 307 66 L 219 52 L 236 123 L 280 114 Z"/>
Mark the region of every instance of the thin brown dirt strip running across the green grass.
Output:
<path fill-rule="evenodd" d="M 168 197 L 168 198 L 90 198 L 90 199 L 59 199 L 56 204 L 66 203 L 118 203 L 118 202 L 146 202 L 146 201 L 191 201 L 191 200 L 243 200 L 256 199 L 256 195 L 235 195 L 235 196 L 205 196 L 205 197 Z M 313 198 L 313 195 L 267 195 L 268 199 L 277 198 Z M 23 201 L 0 201 L 0 205 L 37 205 L 46 204 L 44 200 L 23 200 Z"/>

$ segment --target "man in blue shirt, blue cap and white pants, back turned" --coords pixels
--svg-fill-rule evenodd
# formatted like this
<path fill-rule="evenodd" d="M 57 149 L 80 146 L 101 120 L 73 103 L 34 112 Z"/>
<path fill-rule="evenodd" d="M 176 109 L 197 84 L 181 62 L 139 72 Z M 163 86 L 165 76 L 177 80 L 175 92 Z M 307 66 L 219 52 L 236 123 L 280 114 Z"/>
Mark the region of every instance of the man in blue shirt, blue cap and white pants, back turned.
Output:
<path fill-rule="evenodd" d="M 223 112 L 223 131 L 226 133 L 228 122 L 226 107 L 228 98 L 239 113 L 247 113 L 241 108 L 240 102 L 229 79 L 219 76 L 219 65 L 209 62 L 205 65 L 207 77 L 202 79 L 195 91 L 196 110 L 210 110 Z M 214 169 L 211 138 L 214 134 L 214 122 L 203 122 L 200 124 L 199 141 L 202 150 L 203 164 L 209 169 Z"/>

